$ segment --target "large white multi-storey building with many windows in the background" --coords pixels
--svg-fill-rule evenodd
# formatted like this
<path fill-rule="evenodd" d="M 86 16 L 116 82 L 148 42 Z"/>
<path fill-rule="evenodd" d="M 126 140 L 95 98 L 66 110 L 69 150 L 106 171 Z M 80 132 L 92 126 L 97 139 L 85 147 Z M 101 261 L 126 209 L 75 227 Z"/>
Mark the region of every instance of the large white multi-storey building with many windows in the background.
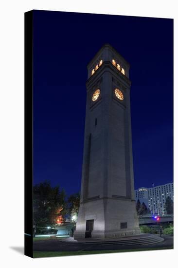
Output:
<path fill-rule="evenodd" d="M 168 196 L 173 200 L 173 183 L 166 183 L 152 188 L 144 187 L 135 190 L 136 201 L 139 199 L 141 203 L 144 202 L 153 214 L 162 214 L 166 212 L 164 211 L 164 204 Z"/>

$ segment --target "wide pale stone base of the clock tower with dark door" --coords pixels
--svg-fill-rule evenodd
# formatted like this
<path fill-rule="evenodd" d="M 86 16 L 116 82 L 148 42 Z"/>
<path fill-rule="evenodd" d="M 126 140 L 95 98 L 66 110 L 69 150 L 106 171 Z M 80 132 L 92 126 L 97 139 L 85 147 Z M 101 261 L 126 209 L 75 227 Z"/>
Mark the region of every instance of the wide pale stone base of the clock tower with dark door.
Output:
<path fill-rule="evenodd" d="M 74 239 L 117 238 L 140 234 L 135 201 L 99 198 L 80 204 Z"/>

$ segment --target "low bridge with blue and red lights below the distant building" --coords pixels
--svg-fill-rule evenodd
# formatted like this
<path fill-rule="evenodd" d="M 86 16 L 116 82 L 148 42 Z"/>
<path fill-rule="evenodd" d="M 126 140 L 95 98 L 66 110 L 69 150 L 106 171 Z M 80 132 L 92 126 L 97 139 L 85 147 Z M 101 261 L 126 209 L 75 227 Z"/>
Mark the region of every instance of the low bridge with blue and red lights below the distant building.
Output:
<path fill-rule="evenodd" d="M 154 216 L 159 217 L 159 221 L 154 218 Z M 142 215 L 139 216 L 139 224 L 157 224 L 157 223 L 163 223 L 163 222 L 170 222 L 173 223 L 174 221 L 174 214 L 163 214 L 163 215 Z"/>

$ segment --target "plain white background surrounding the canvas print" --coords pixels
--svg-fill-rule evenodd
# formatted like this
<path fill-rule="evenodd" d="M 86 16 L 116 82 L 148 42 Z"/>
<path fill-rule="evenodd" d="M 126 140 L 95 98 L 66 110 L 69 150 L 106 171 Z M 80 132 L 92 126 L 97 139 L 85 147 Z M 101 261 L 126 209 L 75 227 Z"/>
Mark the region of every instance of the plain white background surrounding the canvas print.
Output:
<path fill-rule="evenodd" d="M 175 0 L 6 0 L 0 2 L 0 247 L 3 267 L 169 267 L 178 249 L 30 259 L 12 247 L 24 240 L 24 12 L 31 9 L 174 18 L 175 204 L 178 169 L 178 15 Z M 119 28 L 118 28 L 119 31 Z M 166 37 L 165 37 L 166 38 Z M 168 88 L 169 92 L 169 88 Z M 177 223 L 177 213 L 175 217 Z M 178 237 L 176 230 L 175 237 Z"/>

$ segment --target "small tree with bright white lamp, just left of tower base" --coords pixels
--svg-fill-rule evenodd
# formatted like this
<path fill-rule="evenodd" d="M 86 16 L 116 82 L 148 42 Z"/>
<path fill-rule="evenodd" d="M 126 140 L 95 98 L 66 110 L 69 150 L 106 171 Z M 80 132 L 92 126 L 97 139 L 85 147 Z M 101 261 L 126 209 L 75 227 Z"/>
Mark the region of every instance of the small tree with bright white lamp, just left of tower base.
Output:
<path fill-rule="evenodd" d="M 69 203 L 69 213 L 71 215 L 71 219 L 73 219 L 73 221 L 76 222 L 80 206 L 80 194 L 79 193 L 71 194 L 70 197 L 68 198 L 68 203 Z"/>

